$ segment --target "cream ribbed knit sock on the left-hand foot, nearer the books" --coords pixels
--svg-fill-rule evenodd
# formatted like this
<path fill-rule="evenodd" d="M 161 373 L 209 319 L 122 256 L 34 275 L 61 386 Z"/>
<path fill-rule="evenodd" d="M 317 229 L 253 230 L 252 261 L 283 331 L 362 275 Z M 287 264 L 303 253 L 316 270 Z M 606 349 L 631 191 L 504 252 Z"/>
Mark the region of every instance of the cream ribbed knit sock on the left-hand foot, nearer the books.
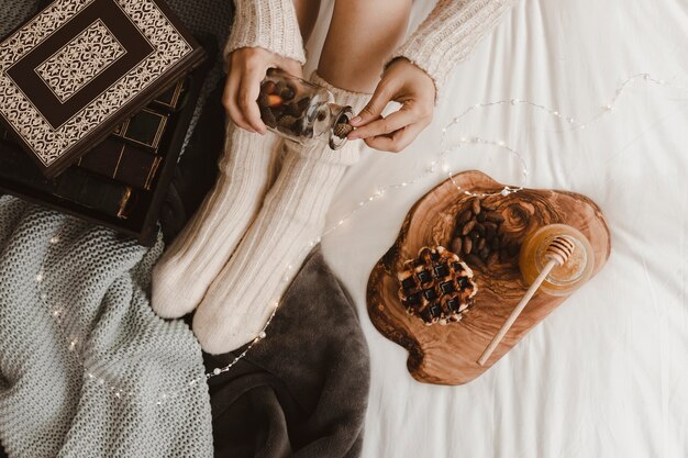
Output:
<path fill-rule="evenodd" d="M 218 182 L 153 270 L 152 305 L 159 316 L 184 316 L 201 302 L 258 213 L 277 142 L 270 132 L 229 123 Z"/>

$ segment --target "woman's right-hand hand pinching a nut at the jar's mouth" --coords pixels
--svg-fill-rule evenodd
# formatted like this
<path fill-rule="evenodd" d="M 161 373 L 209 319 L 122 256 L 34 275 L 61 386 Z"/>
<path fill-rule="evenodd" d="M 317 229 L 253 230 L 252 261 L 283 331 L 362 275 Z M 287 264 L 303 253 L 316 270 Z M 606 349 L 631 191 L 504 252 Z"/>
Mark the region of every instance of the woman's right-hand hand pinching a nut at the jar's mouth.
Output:
<path fill-rule="evenodd" d="M 390 101 L 399 111 L 382 118 Z M 357 127 L 348 139 L 364 138 L 375 149 L 398 153 L 430 124 L 435 108 L 435 83 L 420 67 L 406 58 L 393 60 L 382 74 L 370 102 L 351 120 Z"/>

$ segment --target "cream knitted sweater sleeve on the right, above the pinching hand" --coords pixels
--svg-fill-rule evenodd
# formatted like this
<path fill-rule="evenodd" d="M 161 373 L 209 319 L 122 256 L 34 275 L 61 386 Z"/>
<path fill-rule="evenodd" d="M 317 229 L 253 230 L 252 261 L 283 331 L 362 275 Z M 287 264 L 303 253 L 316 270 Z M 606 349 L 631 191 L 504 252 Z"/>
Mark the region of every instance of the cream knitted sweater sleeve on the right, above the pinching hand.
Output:
<path fill-rule="evenodd" d="M 418 31 L 392 55 L 425 70 L 437 93 L 450 71 L 492 30 L 517 0 L 439 0 Z"/>

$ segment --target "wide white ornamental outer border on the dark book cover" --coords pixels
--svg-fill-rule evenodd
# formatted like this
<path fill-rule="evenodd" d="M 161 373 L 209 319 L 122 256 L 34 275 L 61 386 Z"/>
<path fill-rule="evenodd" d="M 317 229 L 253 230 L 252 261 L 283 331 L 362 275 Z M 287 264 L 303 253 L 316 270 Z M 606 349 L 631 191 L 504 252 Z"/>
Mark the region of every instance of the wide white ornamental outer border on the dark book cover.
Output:
<path fill-rule="evenodd" d="M 0 43 L 0 114 L 49 166 L 148 88 L 192 48 L 153 0 L 115 0 L 154 52 L 63 125 L 53 127 L 22 93 L 7 69 L 63 27 L 93 0 L 58 0 Z"/>

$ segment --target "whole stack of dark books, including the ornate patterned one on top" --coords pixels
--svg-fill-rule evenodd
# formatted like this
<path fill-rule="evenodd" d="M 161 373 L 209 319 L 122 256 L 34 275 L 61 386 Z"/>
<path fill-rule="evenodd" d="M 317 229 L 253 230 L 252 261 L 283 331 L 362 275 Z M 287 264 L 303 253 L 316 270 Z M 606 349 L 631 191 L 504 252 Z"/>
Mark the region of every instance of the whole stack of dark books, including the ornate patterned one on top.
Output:
<path fill-rule="evenodd" d="M 206 68 L 159 0 L 56 0 L 0 43 L 0 190 L 152 244 Z"/>

